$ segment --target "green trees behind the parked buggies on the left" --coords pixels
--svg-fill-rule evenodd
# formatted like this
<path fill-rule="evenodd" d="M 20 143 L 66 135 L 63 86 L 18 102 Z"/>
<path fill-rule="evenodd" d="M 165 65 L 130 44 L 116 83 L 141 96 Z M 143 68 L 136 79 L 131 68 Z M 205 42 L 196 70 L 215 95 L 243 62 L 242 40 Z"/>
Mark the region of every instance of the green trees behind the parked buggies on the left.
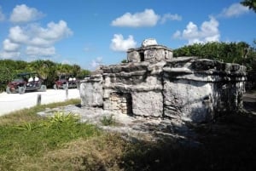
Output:
<path fill-rule="evenodd" d="M 44 79 L 44 84 L 52 88 L 56 77 L 60 74 L 71 74 L 74 77 L 84 77 L 90 71 L 78 65 L 55 63 L 51 60 L 0 60 L 0 92 L 5 91 L 7 84 L 22 72 L 37 72 Z"/>

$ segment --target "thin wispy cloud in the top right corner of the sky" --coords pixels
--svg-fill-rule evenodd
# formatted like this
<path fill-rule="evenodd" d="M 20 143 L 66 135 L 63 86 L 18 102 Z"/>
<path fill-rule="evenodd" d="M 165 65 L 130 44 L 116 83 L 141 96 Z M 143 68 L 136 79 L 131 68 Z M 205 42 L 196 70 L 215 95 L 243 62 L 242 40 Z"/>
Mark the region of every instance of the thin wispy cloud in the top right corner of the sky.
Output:
<path fill-rule="evenodd" d="M 248 12 L 249 9 L 247 7 L 241 5 L 240 3 L 233 3 L 232 5 L 230 5 L 229 8 L 223 9 L 219 16 L 230 18 L 233 16 L 240 16 L 241 14 L 245 14 Z"/>

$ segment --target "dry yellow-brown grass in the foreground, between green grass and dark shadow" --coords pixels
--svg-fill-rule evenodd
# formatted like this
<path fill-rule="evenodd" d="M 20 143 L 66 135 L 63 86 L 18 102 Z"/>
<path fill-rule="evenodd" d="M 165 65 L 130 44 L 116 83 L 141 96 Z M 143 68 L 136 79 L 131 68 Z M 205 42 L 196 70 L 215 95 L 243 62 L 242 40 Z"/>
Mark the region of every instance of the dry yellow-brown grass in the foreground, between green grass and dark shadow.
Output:
<path fill-rule="evenodd" d="M 20 157 L 20 170 L 122 170 L 120 158 L 127 142 L 116 134 L 103 134 L 88 140 L 73 140 L 40 157 Z"/>

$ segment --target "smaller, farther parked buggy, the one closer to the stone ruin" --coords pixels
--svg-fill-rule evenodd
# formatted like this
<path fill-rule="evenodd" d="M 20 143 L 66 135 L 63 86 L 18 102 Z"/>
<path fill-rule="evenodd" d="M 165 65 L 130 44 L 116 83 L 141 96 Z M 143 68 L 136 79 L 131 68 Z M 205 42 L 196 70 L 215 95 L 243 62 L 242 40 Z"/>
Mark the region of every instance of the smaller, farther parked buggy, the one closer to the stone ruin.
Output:
<path fill-rule="evenodd" d="M 54 88 L 78 88 L 79 81 L 76 77 L 73 77 L 73 75 L 70 74 L 61 74 L 59 77 L 55 80 Z"/>

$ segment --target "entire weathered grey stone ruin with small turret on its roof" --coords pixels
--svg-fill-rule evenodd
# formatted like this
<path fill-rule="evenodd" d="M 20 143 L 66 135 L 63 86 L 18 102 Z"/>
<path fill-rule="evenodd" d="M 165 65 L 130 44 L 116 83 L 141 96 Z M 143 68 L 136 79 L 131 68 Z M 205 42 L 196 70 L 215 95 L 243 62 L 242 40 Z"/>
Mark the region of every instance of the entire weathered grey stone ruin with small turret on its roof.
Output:
<path fill-rule="evenodd" d="M 242 107 L 246 67 L 194 56 L 146 39 L 127 63 L 101 66 L 80 85 L 81 105 L 139 117 L 206 123 Z"/>

